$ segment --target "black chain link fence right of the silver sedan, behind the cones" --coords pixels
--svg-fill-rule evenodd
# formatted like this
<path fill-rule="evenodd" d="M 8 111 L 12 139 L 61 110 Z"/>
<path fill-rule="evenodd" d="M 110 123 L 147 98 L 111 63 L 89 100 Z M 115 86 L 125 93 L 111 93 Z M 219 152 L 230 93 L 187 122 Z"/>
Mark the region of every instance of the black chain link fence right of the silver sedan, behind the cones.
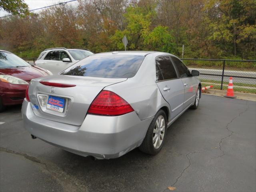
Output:
<path fill-rule="evenodd" d="M 227 90 L 233 78 L 235 92 L 256 94 L 256 60 L 182 59 L 190 70 L 200 72 L 202 86 Z"/>

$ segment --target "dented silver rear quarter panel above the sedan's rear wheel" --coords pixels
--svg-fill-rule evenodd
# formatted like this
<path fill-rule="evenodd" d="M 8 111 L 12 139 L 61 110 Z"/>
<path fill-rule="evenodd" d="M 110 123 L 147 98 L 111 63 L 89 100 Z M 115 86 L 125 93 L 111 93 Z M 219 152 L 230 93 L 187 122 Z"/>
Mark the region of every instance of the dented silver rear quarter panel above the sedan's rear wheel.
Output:
<path fill-rule="evenodd" d="M 148 54 L 133 78 L 104 88 L 124 98 L 140 120 L 155 116 L 163 106 L 168 108 L 170 114 L 170 105 L 164 100 L 156 85 L 155 57 L 158 55 L 159 53 Z"/>

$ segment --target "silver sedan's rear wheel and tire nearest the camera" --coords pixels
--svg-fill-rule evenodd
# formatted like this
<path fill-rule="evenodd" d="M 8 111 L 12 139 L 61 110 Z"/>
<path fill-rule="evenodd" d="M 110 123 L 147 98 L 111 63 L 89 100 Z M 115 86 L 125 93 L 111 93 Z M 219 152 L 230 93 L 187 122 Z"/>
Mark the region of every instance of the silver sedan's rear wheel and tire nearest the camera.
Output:
<path fill-rule="evenodd" d="M 164 119 L 164 120 L 163 120 Z M 162 126 L 161 126 L 162 125 Z M 146 136 L 139 149 L 147 154 L 156 155 L 160 152 L 166 135 L 167 118 L 163 110 L 159 110 L 148 127 Z"/>

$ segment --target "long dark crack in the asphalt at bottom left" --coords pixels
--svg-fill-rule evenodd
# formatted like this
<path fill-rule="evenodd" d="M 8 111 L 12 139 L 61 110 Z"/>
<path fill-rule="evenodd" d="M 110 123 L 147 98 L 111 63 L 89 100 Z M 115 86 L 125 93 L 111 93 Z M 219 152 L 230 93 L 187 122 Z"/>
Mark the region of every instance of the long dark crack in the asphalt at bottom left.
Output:
<path fill-rule="evenodd" d="M 4 147 L 0 147 L 0 151 L 23 156 L 24 158 L 26 158 L 32 162 L 42 165 L 40 167 L 42 172 L 52 176 L 52 178 L 54 178 L 54 180 L 56 180 L 62 186 L 63 191 L 65 191 L 65 192 L 88 191 L 86 186 L 84 186 L 83 184 L 80 184 L 79 181 L 77 180 L 77 178 L 75 178 L 74 176 L 68 175 L 66 172 L 64 172 L 60 168 L 58 168 L 58 166 L 56 166 L 55 164 L 52 164 L 50 162 L 48 162 L 46 164 L 33 156 L 30 156 L 25 153 L 16 152 L 16 151 L 4 148 Z"/>

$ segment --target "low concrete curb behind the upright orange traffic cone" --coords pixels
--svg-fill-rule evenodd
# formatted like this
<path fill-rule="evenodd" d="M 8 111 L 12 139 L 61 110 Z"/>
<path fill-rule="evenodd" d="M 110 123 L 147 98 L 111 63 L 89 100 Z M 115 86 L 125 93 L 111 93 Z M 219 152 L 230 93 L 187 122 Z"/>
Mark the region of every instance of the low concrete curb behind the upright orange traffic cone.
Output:
<path fill-rule="evenodd" d="M 227 91 L 224 91 L 224 90 L 207 89 L 206 91 L 204 91 L 202 93 L 203 94 L 217 95 L 217 96 L 224 96 L 224 95 L 226 95 L 226 92 Z M 237 96 L 237 99 L 249 100 L 249 101 L 255 101 L 256 102 L 256 94 L 234 92 L 234 96 Z"/>

